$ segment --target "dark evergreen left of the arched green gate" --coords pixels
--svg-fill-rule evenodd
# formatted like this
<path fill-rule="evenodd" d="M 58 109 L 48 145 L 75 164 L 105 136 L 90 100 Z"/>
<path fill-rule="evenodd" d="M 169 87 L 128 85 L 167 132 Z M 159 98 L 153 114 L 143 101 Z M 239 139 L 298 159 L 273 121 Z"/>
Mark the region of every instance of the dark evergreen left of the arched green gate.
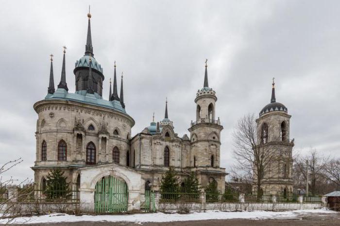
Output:
<path fill-rule="evenodd" d="M 68 199 L 72 195 L 68 186 L 69 183 L 64 177 L 64 172 L 56 169 L 47 175 L 46 191 L 44 193 L 49 199 Z"/>

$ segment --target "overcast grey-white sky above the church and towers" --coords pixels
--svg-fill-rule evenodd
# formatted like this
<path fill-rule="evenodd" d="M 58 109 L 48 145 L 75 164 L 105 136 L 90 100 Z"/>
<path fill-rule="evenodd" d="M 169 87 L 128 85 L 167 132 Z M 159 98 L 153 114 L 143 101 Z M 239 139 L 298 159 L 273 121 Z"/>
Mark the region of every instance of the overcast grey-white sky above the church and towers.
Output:
<path fill-rule="evenodd" d="M 221 166 L 232 162 L 231 133 L 238 118 L 276 100 L 291 117 L 295 152 L 317 148 L 340 156 L 339 1 L 1 1 L 0 163 L 23 158 L 8 175 L 33 178 L 33 104 L 47 94 L 49 55 L 60 81 L 66 45 L 69 92 L 74 63 L 85 51 L 91 5 L 93 51 L 105 75 L 108 98 L 113 62 L 124 71 L 124 100 L 135 119 L 133 135 L 164 117 L 165 99 L 175 132 L 188 134 L 196 91 L 216 91 Z"/>

